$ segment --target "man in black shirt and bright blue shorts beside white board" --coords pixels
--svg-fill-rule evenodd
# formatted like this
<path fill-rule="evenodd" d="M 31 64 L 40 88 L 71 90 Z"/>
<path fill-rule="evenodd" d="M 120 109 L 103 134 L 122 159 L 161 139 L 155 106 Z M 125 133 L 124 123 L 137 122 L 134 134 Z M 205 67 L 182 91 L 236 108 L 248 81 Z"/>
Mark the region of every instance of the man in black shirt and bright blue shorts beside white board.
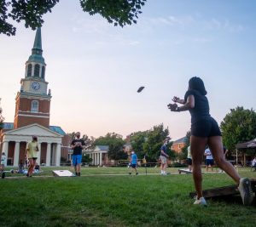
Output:
<path fill-rule="evenodd" d="M 76 176 L 81 175 L 82 150 L 84 149 L 84 139 L 80 139 L 80 133 L 75 134 L 75 139 L 71 142 L 71 149 L 73 150 L 72 163 Z"/>

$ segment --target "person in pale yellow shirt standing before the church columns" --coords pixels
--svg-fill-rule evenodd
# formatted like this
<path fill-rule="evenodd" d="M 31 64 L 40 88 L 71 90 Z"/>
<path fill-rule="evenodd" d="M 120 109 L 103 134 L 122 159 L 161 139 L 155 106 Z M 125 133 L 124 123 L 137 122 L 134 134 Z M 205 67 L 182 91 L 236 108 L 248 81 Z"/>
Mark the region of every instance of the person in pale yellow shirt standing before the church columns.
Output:
<path fill-rule="evenodd" d="M 26 173 L 26 177 L 32 177 L 32 173 L 37 163 L 38 159 L 38 137 L 33 135 L 32 142 L 26 145 L 26 156 L 29 161 L 29 167 Z"/>

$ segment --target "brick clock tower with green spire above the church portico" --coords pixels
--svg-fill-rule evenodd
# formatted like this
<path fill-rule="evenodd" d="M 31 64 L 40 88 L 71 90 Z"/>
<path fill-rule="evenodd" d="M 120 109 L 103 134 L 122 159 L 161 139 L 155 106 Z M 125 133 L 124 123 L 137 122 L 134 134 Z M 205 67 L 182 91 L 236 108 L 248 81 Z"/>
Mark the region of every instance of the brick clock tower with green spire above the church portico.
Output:
<path fill-rule="evenodd" d="M 25 78 L 20 80 L 20 92 L 15 98 L 14 128 L 38 123 L 49 128 L 51 94 L 47 93 L 41 28 L 37 29 L 32 54 L 26 61 Z"/>

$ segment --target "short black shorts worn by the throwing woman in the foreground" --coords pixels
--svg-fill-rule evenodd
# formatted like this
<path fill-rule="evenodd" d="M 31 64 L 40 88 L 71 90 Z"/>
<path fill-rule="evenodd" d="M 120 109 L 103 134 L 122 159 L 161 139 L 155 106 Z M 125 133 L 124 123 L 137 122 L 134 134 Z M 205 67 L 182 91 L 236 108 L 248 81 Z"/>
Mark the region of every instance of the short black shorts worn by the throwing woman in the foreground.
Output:
<path fill-rule="evenodd" d="M 221 136 L 218 123 L 212 117 L 192 123 L 191 134 L 198 137 Z"/>

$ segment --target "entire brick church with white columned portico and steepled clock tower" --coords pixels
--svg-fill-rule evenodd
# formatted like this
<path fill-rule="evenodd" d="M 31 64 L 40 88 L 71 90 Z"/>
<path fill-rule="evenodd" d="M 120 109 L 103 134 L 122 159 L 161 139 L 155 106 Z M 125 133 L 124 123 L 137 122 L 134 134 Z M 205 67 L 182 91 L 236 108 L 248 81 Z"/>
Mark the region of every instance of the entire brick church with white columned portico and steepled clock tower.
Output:
<path fill-rule="evenodd" d="M 0 131 L 0 151 L 5 152 L 8 166 L 25 162 L 26 144 L 38 136 L 38 164 L 60 166 L 67 159 L 67 134 L 59 126 L 49 125 L 51 92 L 45 81 L 41 29 L 38 28 L 32 54 L 26 61 L 25 77 L 15 98 L 15 120 L 4 122 Z"/>

